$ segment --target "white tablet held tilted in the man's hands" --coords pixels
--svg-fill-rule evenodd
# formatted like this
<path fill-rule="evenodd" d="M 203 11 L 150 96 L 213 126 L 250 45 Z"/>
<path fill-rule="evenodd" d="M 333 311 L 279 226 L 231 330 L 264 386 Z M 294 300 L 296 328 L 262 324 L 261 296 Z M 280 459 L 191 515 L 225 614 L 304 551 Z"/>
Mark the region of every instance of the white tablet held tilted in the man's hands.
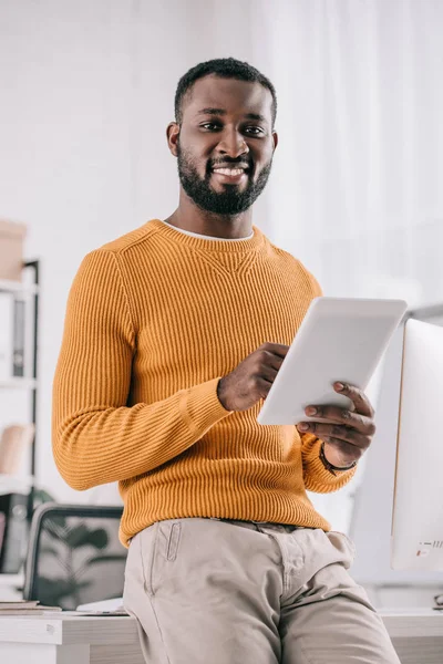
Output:
<path fill-rule="evenodd" d="M 309 405 L 353 409 L 332 384 L 341 381 L 365 390 L 406 307 L 403 300 L 315 298 L 257 422 L 316 422 L 305 414 Z"/>

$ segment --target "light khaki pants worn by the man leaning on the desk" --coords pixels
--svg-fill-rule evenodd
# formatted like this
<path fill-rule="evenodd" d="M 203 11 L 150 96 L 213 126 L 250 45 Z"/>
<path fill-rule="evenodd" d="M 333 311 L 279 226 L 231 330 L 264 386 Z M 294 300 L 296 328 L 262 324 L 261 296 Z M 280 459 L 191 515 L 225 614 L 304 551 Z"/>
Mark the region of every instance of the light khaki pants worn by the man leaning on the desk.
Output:
<path fill-rule="evenodd" d="M 399 664 L 340 532 L 168 519 L 130 544 L 124 605 L 150 664 Z"/>

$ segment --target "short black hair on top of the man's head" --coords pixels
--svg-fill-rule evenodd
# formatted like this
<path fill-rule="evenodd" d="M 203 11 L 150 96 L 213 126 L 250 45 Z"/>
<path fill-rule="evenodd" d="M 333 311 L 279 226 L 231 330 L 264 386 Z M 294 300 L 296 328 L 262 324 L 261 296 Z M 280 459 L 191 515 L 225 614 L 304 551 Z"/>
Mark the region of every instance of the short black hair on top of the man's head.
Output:
<path fill-rule="evenodd" d="M 193 66 L 186 72 L 178 81 L 177 90 L 175 92 L 175 120 L 178 124 L 183 121 L 183 97 L 190 90 L 198 79 L 215 74 L 220 79 L 236 79 L 237 81 L 248 81 L 250 83 L 260 83 L 264 87 L 267 87 L 272 95 L 272 127 L 277 116 L 277 94 L 272 83 L 264 74 L 261 74 L 255 66 L 247 62 L 241 62 L 235 58 L 218 58 L 217 60 L 208 60 L 207 62 L 200 62 Z"/>

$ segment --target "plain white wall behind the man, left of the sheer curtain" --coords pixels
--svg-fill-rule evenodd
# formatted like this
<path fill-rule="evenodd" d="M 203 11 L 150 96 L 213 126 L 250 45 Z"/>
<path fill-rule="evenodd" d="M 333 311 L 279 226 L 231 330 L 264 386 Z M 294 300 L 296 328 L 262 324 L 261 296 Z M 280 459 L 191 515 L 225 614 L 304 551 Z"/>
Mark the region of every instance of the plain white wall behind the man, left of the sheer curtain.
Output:
<path fill-rule="evenodd" d="M 52 460 L 51 386 L 68 291 L 84 255 L 176 206 L 165 129 L 178 79 L 210 58 L 258 66 L 254 1 L 2 0 L 0 216 L 23 221 L 41 260 L 38 479 L 60 500 L 79 494 Z M 265 209 L 260 201 L 260 209 Z M 0 423 L 25 396 L 2 395 Z"/>

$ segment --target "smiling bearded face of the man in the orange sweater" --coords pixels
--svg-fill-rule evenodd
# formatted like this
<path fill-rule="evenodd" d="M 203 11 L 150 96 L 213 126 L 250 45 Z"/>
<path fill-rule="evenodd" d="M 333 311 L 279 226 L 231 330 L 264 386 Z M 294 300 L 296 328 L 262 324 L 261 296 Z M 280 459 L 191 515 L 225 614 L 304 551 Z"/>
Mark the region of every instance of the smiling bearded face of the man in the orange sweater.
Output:
<path fill-rule="evenodd" d="M 238 215 L 268 180 L 277 135 L 270 92 L 259 83 L 205 76 L 183 100 L 178 175 L 204 210 Z"/>

